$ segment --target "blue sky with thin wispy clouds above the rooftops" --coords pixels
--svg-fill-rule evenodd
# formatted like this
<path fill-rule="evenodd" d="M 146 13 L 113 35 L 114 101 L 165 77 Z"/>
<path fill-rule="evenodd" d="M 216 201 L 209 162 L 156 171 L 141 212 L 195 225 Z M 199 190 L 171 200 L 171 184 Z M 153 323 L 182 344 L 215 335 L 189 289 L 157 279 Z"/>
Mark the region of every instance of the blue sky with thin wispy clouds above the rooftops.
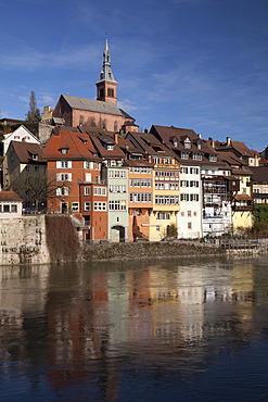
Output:
<path fill-rule="evenodd" d="M 141 129 L 268 146 L 268 0 L 0 0 L 0 113 L 95 99 L 106 33 L 119 106 Z"/>

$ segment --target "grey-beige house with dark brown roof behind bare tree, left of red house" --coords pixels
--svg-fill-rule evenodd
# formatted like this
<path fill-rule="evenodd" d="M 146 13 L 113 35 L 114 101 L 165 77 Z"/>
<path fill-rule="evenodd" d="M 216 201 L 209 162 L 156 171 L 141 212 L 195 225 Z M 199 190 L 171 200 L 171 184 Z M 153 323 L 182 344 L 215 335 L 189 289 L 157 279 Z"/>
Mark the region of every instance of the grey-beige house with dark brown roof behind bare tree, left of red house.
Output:
<path fill-rule="evenodd" d="M 13 190 L 23 199 L 26 213 L 44 211 L 47 163 L 38 143 L 11 141 L 2 169 L 3 189 Z"/>

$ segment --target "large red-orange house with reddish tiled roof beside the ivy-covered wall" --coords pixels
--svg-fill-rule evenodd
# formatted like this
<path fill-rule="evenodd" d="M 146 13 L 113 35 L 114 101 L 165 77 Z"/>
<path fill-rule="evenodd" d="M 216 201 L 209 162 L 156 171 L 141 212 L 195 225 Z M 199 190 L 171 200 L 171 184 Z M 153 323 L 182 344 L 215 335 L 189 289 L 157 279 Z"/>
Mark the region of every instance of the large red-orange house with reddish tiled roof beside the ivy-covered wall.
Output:
<path fill-rule="evenodd" d="M 107 239 L 107 187 L 101 180 L 101 159 L 89 136 L 58 127 L 43 156 L 48 181 L 55 183 L 48 211 L 72 214 L 84 240 Z"/>

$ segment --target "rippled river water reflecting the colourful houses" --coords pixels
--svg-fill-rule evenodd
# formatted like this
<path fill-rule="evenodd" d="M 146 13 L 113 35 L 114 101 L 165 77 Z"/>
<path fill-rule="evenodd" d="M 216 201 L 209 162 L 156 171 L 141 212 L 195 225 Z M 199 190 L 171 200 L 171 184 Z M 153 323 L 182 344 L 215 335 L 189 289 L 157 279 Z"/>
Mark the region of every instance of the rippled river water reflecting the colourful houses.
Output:
<path fill-rule="evenodd" d="M 1 401 L 267 401 L 268 259 L 0 268 Z"/>

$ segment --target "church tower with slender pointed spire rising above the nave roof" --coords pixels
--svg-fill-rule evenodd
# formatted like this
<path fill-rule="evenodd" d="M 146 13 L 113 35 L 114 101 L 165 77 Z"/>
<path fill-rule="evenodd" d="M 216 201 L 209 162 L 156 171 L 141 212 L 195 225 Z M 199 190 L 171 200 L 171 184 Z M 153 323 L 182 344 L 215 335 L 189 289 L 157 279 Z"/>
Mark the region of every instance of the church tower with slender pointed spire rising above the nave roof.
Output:
<path fill-rule="evenodd" d="M 117 106 L 117 83 L 114 79 L 114 75 L 111 68 L 111 56 L 107 39 L 103 52 L 103 65 L 100 80 L 95 85 L 97 100 L 114 103 Z"/>

